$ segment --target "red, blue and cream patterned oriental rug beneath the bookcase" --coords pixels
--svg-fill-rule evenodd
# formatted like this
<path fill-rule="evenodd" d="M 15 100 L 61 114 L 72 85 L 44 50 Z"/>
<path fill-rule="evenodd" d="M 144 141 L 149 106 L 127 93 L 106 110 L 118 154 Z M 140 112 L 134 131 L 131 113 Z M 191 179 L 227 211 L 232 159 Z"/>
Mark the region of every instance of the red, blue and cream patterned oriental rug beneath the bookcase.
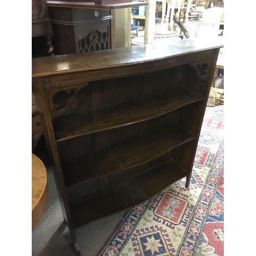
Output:
<path fill-rule="evenodd" d="M 126 212 L 97 256 L 224 254 L 224 105 L 206 107 L 189 188 L 185 179 Z"/>

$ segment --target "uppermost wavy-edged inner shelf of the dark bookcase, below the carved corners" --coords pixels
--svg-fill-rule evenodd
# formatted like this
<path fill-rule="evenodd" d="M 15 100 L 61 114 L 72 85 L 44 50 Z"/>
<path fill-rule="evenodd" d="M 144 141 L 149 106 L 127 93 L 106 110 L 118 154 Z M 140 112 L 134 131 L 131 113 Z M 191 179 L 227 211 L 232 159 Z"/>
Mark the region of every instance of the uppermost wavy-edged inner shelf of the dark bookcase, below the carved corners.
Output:
<path fill-rule="evenodd" d="M 56 118 L 53 123 L 56 141 L 156 118 L 202 99 L 204 97 L 199 94 L 177 88 L 145 99 L 120 103 L 112 108 Z"/>

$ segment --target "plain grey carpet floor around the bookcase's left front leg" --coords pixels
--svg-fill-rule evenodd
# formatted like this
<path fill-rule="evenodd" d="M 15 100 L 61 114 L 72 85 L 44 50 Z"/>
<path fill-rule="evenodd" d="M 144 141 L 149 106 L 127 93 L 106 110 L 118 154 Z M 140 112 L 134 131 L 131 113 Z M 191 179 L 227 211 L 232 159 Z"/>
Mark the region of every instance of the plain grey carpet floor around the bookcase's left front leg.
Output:
<path fill-rule="evenodd" d="M 224 77 L 217 77 L 216 88 L 224 89 Z M 32 256 L 74 256 L 69 230 L 63 223 L 57 189 L 46 146 L 41 140 L 35 154 L 44 162 L 48 175 L 49 198 L 44 215 L 32 230 Z M 110 237 L 126 211 L 84 225 L 76 230 L 82 256 L 95 256 Z"/>

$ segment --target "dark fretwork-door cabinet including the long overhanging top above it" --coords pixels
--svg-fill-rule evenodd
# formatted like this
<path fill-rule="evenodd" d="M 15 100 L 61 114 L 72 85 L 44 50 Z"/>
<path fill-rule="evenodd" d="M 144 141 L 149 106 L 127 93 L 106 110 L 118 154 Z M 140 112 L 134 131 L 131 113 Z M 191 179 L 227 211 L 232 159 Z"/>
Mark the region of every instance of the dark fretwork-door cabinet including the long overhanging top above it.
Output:
<path fill-rule="evenodd" d="M 73 1 L 47 3 L 53 23 L 56 54 L 116 48 L 115 10 L 148 5 L 129 1 L 118 4 Z"/>

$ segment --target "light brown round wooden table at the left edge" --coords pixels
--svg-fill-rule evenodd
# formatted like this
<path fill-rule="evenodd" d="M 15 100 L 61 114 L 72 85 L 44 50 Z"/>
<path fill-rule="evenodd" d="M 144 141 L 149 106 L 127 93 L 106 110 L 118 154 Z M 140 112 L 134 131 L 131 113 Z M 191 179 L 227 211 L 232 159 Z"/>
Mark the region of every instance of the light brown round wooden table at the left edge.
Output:
<path fill-rule="evenodd" d="M 47 201 L 46 167 L 37 156 L 32 154 L 32 230 L 44 214 Z"/>

